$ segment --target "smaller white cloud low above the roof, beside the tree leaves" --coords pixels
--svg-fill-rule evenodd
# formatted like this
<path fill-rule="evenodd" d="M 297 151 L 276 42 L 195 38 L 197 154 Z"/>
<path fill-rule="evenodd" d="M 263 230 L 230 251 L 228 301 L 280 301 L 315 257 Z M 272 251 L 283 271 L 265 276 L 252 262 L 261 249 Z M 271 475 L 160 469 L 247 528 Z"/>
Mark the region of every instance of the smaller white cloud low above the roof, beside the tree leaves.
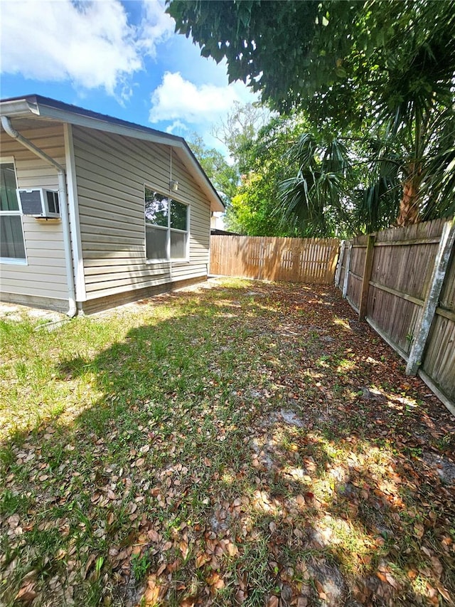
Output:
<path fill-rule="evenodd" d="M 181 120 L 190 124 L 217 122 L 235 101 L 244 101 L 242 97 L 245 97 L 245 92 L 240 93 L 237 85 L 196 86 L 178 72 L 166 72 L 161 85 L 151 94 L 149 120 L 152 123 L 163 120 Z M 252 95 L 249 100 L 252 100 Z"/>

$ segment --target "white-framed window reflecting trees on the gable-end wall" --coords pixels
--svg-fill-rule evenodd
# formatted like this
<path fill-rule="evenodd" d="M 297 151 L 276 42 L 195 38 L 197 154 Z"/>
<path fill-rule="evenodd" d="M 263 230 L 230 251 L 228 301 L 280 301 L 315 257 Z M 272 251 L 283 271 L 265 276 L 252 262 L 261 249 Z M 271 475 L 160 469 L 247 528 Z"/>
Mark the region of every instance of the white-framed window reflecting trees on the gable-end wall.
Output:
<path fill-rule="evenodd" d="M 147 259 L 188 258 L 188 205 L 145 188 Z"/>

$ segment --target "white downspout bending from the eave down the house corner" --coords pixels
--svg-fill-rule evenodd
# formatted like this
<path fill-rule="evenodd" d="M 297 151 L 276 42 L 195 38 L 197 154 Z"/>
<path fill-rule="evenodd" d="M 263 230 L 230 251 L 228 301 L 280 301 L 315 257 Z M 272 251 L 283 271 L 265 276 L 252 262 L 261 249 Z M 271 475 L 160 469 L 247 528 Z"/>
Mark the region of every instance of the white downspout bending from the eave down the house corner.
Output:
<path fill-rule="evenodd" d="M 31 141 L 28 141 L 25 137 L 23 137 L 16 129 L 11 125 L 11 120 L 8 116 L 1 117 L 1 126 L 4 127 L 4 130 L 10 137 L 16 139 L 19 143 L 29 149 L 33 154 L 42 158 L 46 162 L 57 169 L 58 174 L 58 196 L 60 199 L 60 213 L 62 216 L 62 228 L 63 228 L 63 245 L 65 247 L 65 265 L 66 265 L 66 280 L 68 284 L 68 304 L 69 309 L 66 314 L 73 318 L 77 314 L 76 307 L 76 292 L 75 292 L 75 284 L 74 284 L 74 273 L 73 273 L 73 257 L 71 255 L 71 236 L 70 236 L 70 219 L 68 217 L 68 201 L 66 196 L 66 176 L 65 169 L 63 169 L 61 164 L 58 164 L 53 158 L 48 156 L 42 149 L 36 147 Z"/>

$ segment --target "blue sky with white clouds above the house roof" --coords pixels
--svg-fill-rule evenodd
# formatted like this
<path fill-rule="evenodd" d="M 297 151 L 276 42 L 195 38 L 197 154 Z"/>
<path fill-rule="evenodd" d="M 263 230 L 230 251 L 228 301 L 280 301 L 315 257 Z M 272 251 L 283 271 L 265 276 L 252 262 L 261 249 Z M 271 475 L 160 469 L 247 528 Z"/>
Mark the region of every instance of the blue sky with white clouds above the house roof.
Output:
<path fill-rule="evenodd" d="M 220 148 L 235 101 L 225 65 L 173 33 L 164 0 L 0 0 L 1 97 L 33 93 Z"/>

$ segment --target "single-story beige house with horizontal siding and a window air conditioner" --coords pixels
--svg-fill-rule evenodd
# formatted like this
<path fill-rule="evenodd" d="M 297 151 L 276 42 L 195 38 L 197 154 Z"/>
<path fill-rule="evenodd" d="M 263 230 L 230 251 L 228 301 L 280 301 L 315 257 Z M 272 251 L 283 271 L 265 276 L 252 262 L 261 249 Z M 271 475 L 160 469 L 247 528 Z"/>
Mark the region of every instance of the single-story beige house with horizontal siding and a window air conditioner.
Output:
<path fill-rule="evenodd" d="M 205 280 L 224 206 L 184 139 L 39 95 L 0 115 L 1 300 L 74 316 Z"/>

